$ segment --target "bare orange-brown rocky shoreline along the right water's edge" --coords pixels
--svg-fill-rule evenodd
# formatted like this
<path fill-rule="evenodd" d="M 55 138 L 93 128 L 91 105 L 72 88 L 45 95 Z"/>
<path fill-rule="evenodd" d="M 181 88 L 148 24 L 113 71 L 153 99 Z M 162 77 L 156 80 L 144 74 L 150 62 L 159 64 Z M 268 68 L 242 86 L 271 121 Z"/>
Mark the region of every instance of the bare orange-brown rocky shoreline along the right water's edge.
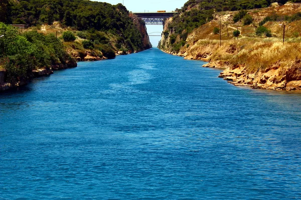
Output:
<path fill-rule="evenodd" d="M 202 67 L 220 68 L 223 71 L 218 77 L 235 86 L 248 86 L 253 89 L 271 89 L 271 90 L 301 90 L 301 59 L 292 60 L 287 65 L 292 66 L 284 68 L 280 66 L 280 60 L 269 65 L 264 71 L 259 69 L 256 72 L 248 73 L 245 64 L 233 66 L 228 61 L 207 60 L 208 54 L 199 57 L 187 57 L 184 54 L 173 53 L 160 49 L 165 53 L 184 57 L 188 60 L 201 60 L 208 63 Z M 300 67 L 298 67 L 300 66 Z"/>

